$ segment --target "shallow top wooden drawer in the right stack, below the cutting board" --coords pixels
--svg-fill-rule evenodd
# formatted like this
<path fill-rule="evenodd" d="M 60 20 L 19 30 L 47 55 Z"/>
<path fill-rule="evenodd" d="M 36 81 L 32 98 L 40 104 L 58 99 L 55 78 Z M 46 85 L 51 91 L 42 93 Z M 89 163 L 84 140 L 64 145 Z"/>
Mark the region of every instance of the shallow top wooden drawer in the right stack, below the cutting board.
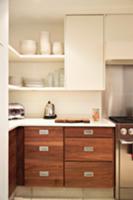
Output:
<path fill-rule="evenodd" d="M 68 127 L 65 128 L 65 137 L 113 137 L 114 129 L 113 128 L 93 128 L 93 127 L 84 127 L 84 128 L 74 128 Z"/>

